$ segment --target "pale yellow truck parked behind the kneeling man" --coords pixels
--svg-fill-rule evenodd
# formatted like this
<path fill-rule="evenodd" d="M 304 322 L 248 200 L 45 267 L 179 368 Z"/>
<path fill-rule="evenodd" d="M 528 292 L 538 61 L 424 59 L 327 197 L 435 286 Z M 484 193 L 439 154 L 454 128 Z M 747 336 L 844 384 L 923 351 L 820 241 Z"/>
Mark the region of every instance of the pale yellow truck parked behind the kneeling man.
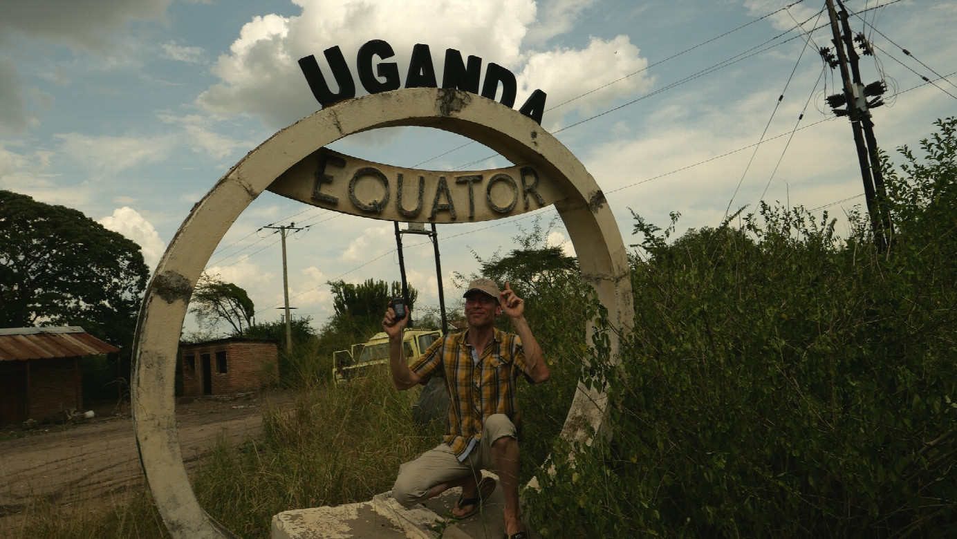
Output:
<path fill-rule="evenodd" d="M 412 330 L 406 328 L 402 334 L 402 349 L 406 361 L 421 356 L 429 345 L 442 336 L 435 330 Z M 377 370 L 389 369 L 389 335 L 380 332 L 372 335 L 362 344 L 353 344 L 352 350 L 340 350 L 332 354 L 332 377 L 337 382 L 359 377 L 367 377 Z M 381 366 L 380 366 L 381 365 Z"/>

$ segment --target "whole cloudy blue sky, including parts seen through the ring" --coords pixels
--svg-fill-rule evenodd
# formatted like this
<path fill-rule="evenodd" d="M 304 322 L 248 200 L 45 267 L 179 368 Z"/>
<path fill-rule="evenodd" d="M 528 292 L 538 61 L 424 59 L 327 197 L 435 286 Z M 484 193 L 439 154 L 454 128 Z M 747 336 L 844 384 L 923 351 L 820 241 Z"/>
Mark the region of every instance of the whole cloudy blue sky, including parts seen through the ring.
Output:
<path fill-rule="evenodd" d="M 860 62 L 864 82 L 891 88 L 873 111 L 879 145 L 917 145 L 934 119 L 957 111 L 957 4 L 846 5 L 853 30 L 876 47 Z M 155 267 L 190 207 L 235 162 L 319 108 L 301 56 L 323 66 L 329 47 L 354 58 L 384 39 L 400 73 L 412 45 L 425 43 L 436 68 L 451 47 L 510 69 L 519 104 L 545 91 L 543 126 L 605 190 L 626 245 L 638 240 L 632 210 L 659 226 L 679 211 L 684 230 L 717 226 L 728 207 L 763 197 L 842 220 L 864 204 L 863 188 L 851 127 L 824 102 L 840 77 L 817 54 L 831 45 L 823 9 L 823 0 L 6 0 L 0 188 L 83 211 L 137 241 Z M 466 142 L 392 128 L 332 147 L 434 170 L 508 164 L 478 143 L 449 152 Z M 514 248 L 536 216 L 547 225 L 555 212 L 439 226 L 451 305 L 453 272 L 475 272 L 473 252 Z M 391 223 L 264 193 L 209 267 L 250 292 L 257 320 L 278 318 L 282 281 L 278 235 L 256 230 L 290 222 L 311 225 L 289 239 L 289 279 L 297 315 L 315 325 L 331 314 L 326 281 L 398 280 Z M 566 237 L 559 222 L 550 242 Z M 421 243 L 407 239 L 406 260 L 425 307 L 437 303 L 437 280 L 432 247 Z"/>

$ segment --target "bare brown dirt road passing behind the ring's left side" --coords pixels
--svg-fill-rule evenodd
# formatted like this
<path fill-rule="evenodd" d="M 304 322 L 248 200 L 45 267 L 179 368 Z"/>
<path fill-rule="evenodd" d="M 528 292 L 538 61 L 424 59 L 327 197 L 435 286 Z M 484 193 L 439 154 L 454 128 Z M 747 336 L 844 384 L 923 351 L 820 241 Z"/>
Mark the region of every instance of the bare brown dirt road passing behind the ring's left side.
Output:
<path fill-rule="evenodd" d="M 220 436 L 241 442 L 257 434 L 262 424 L 260 409 L 267 402 L 284 404 L 292 399 L 289 393 L 267 390 L 233 399 L 177 403 L 187 468 Z M 37 497 L 67 504 L 107 496 L 143 481 L 128 404 L 118 416 L 49 425 L 26 438 L 0 439 L 0 517 L 21 512 Z"/>

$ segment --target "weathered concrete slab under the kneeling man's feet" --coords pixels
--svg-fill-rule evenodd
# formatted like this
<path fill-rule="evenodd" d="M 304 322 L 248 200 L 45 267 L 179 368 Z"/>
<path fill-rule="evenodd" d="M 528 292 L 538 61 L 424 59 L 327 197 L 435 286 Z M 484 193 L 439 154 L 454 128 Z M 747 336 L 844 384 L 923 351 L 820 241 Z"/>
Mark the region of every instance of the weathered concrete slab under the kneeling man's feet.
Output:
<path fill-rule="evenodd" d="M 456 522 L 449 517 L 460 493 L 461 488 L 452 488 L 411 509 L 400 506 L 391 492 L 384 492 L 359 504 L 284 511 L 273 517 L 272 539 L 501 539 L 501 485 L 478 513 Z M 541 539 L 531 529 L 528 536 Z"/>

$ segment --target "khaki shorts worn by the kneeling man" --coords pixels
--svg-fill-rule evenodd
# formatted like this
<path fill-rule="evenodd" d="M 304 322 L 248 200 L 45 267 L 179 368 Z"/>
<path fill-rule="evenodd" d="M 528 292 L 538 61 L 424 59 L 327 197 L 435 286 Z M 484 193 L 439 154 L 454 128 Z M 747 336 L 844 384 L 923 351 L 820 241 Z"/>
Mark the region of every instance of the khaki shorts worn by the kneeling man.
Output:
<path fill-rule="evenodd" d="M 402 507 L 412 507 L 422 501 L 434 485 L 456 481 L 474 475 L 481 479 L 481 470 L 490 469 L 492 443 L 504 436 L 518 438 L 515 424 L 508 416 L 489 416 L 482 425 L 481 440 L 461 463 L 447 443 L 439 443 L 434 449 L 422 453 L 411 463 L 399 466 L 399 477 L 392 486 L 392 497 Z"/>

